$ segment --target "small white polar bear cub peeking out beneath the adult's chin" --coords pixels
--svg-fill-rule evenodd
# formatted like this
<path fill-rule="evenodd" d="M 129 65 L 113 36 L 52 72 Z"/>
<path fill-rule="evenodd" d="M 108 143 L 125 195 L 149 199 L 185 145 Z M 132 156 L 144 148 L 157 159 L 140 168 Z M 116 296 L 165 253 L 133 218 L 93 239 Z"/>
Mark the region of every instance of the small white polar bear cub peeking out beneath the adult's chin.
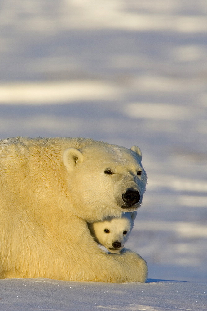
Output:
<path fill-rule="evenodd" d="M 123 213 L 121 217 L 110 217 L 88 224 L 95 241 L 110 253 L 119 253 L 129 238 L 137 212 Z"/>

